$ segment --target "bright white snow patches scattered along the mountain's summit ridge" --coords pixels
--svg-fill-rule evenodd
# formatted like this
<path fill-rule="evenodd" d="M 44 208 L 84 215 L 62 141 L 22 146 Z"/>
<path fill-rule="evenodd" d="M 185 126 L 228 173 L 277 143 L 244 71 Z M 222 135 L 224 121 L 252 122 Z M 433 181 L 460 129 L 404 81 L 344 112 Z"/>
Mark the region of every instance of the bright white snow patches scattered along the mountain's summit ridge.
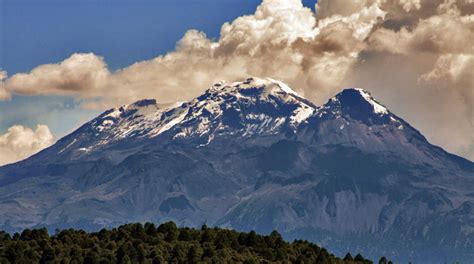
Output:
<path fill-rule="evenodd" d="M 176 125 L 177 123 L 179 123 L 179 121 L 183 121 L 183 120 L 179 120 L 180 118 L 184 118 L 183 116 L 179 116 L 179 115 L 178 116 L 176 116 L 176 115 L 173 116 L 173 112 L 177 112 L 178 114 L 183 113 L 183 111 L 178 111 L 180 108 L 186 109 L 188 111 L 191 110 L 191 109 L 189 109 L 189 105 L 192 105 L 193 103 L 196 104 L 196 102 L 195 102 L 196 100 L 198 102 L 204 100 L 205 99 L 204 97 L 206 95 L 210 96 L 212 93 L 217 93 L 219 91 L 222 92 L 223 90 L 225 90 L 226 87 L 227 88 L 229 88 L 229 87 L 234 88 L 234 91 L 226 92 L 226 93 L 224 93 L 225 95 L 239 94 L 239 91 L 235 91 L 235 88 L 237 86 L 238 86 L 238 89 L 240 89 L 244 86 L 244 89 L 242 89 L 241 91 L 245 91 L 245 92 L 248 92 L 248 91 L 252 90 L 252 86 L 257 86 L 257 87 L 265 86 L 265 89 L 268 89 L 266 87 L 266 86 L 268 86 L 268 84 L 270 84 L 270 86 L 272 86 L 272 85 L 278 86 L 281 89 L 279 91 L 280 93 L 286 94 L 287 96 L 291 96 L 293 98 L 296 98 L 297 100 L 299 100 L 300 102 L 305 104 L 305 106 L 307 108 L 305 107 L 304 110 L 307 110 L 307 111 L 306 112 L 305 111 L 299 112 L 298 113 L 298 114 L 300 114 L 299 116 L 297 116 L 295 114 L 294 122 L 296 122 L 296 123 L 303 122 L 307 118 L 310 118 L 310 117 L 313 117 L 313 116 L 316 116 L 316 115 L 321 116 L 325 112 L 324 110 L 326 110 L 326 108 L 328 108 L 328 105 L 334 105 L 334 104 L 339 103 L 339 107 L 340 107 L 340 101 L 339 101 L 338 98 L 343 97 L 347 93 L 358 93 L 360 95 L 359 97 L 363 99 L 363 102 L 365 102 L 365 106 L 361 104 L 363 106 L 362 108 L 365 108 L 365 109 L 363 109 L 364 111 L 369 111 L 369 112 L 372 112 L 372 111 L 376 112 L 377 110 L 382 111 L 382 112 L 379 112 L 377 114 L 378 117 L 375 118 L 375 121 L 380 122 L 380 120 L 383 120 L 383 119 L 386 120 L 387 118 L 390 118 L 390 120 L 393 121 L 393 122 L 403 121 L 401 118 L 399 118 L 398 116 L 396 116 L 393 113 L 389 112 L 384 106 L 382 106 L 375 99 L 373 99 L 369 92 L 367 92 L 367 91 L 365 91 L 361 88 L 344 89 L 339 94 L 337 94 L 334 97 L 332 97 L 331 99 L 329 99 L 326 104 L 323 104 L 321 106 L 316 106 L 315 104 L 313 104 L 309 100 L 307 100 L 304 97 L 301 97 L 300 95 L 298 95 L 291 88 L 289 88 L 287 85 L 283 84 L 280 81 L 275 81 L 275 80 L 270 79 L 270 78 L 260 79 L 260 78 L 256 78 L 256 77 L 251 77 L 251 78 L 246 79 L 243 82 L 233 82 L 233 83 L 226 83 L 226 82 L 223 82 L 223 81 L 218 82 L 215 85 L 213 85 L 210 89 L 206 90 L 203 95 L 201 95 L 201 96 L 199 96 L 195 99 L 192 99 L 189 102 L 178 102 L 178 103 L 172 104 L 171 106 L 164 107 L 164 108 L 159 106 L 155 99 L 139 100 L 139 101 L 137 101 L 135 103 L 132 103 L 132 104 L 129 104 L 129 105 L 124 105 L 124 106 L 121 106 L 121 107 L 118 107 L 118 108 L 109 109 L 109 110 L 105 111 L 104 113 L 100 114 L 97 118 L 95 118 L 95 119 L 91 120 L 90 122 L 86 123 L 84 126 L 90 124 L 90 125 L 94 126 L 94 129 L 96 129 L 100 133 L 100 132 L 102 132 L 102 130 L 107 130 L 107 129 L 110 129 L 112 126 L 114 126 L 115 122 L 117 121 L 115 119 L 125 119 L 125 121 L 127 121 L 128 117 L 132 117 L 132 120 L 134 121 L 134 123 L 125 124 L 127 126 L 127 128 L 129 128 L 130 130 L 112 131 L 115 134 L 115 137 L 116 138 L 121 138 L 121 137 L 125 138 L 126 136 L 132 136 L 132 137 L 133 136 L 149 136 L 149 137 L 153 138 L 153 137 L 156 137 L 156 136 L 158 136 L 159 134 L 161 134 L 163 132 L 166 132 L 167 129 L 169 129 L 170 127 Z M 280 86 L 282 86 L 284 88 L 281 88 Z M 270 89 L 273 89 L 273 88 L 274 87 L 271 87 Z M 265 94 L 265 93 L 263 93 L 263 94 Z M 252 96 L 251 94 L 247 94 L 247 96 L 248 95 Z M 281 98 L 279 98 L 279 99 L 281 99 Z M 225 99 L 225 100 L 227 100 L 227 99 Z M 329 106 L 329 108 L 331 108 L 331 106 Z M 382 110 L 380 110 L 380 109 L 382 109 Z M 199 110 L 209 111 L 209 109 L 206 109 L 205 107 L 204 107 L 204 109 L 199 109 Z M 356 109 L 356 110 L 360 111 L 360 109 Z M 321 112 L 323 112 L 323 113 L 321 113 Z M 158 116 L 157 113 L 162 114 L 162 115 Z M 167 115 L 172 115 L 172 117 L 176 117 L 174 119 L 174 122 L 169 122 L 171 120 L 166 118 Z M 161 120 L 159 120 L 159 118 L 161 118 Z M 256 118 L 258 118 L 258 117 L 256 117 Z M 299 120 L 297 120 L 297 118 L 303 118 L 304 120 L 299 121 Z M 121 121 L 121 120 L 118 120 L 118 121 Z M 167 121 L 168 121 L 168 123 L 164 127 L 161 127 L 161 130 L 159 129 L 160 127 L 154 128 L 154 130 L 151 130 L 151 128 L 147 129 L 146 127 L 143 128 L 143 126 L 141 126 L 141 127 L 138 126 L 138 125 L 143 125 L 144 122 L 145 123 L 153 123 L 153 122 L 166 123 Z M 372 120 L 372 121 L 374 121 L 374 120 Z M 388 122 L 386 122 L 386 123 L 388 124 Z M 402 123 L 403 124 L 408 124 L 405 121 L 403 121 Z M 400 124 L 399 129 L 403 128 L 403 124 Z M 78 130 L 83 129 L 84 126 L 80 127 Z M 142 128 L 142 130 L 140 130 L 140 128 Z M 414 129 L 414 128 L 412 128 L 412 129 Z M 74 131 L 73 133 L 71 133 L 68 136 L 74 135 L 76 132 L 77 132 L 77 130 Z M 421 133 L 420 133 L 420 135 L 421 135 Z M 62 141 L 64 138 L 67 138 L 68 136 L 63 137 L 58 142 Z M 180 136 L 180 135 L 178 135 L 178 136 Z M 61 149 L 60 152 L 63 152 L 67 148 L 73 146 L 74 143 L 75 142 L 68 142 L 68 144 L 65 145 L 65 148 Z M 102 144 L 103 143 L 104 142 L 102 142 Z M 82 148 L 81 150 L 86 152 L 86 153 L 88 151 L 90 151 L 90 149 L 88 149 L 88 148 Z"/>

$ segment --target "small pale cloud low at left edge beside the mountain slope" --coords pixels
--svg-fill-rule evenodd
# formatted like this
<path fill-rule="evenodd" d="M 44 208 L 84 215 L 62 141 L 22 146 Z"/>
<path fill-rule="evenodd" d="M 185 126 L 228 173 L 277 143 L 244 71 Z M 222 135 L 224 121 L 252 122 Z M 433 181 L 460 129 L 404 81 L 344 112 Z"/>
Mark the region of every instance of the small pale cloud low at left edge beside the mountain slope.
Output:
<path fill-rule="evenodd" d="M 36 130 L 12 126 L 0 134 L 0 165 L 25 159 L 53 143 L 53 134 L 46 125 L 38 125 Z"/>

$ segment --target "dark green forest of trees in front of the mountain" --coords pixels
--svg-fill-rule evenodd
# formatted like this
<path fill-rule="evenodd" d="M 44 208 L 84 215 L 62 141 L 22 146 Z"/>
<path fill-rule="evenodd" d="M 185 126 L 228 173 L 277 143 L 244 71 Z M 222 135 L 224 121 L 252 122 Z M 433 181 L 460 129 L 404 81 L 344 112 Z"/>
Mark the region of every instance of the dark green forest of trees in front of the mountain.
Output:
<path fill-rule="evenodd" d="M 167 222 L 127 224 L 87 233 L 45 228 L 13 236 L 0 232 L 0 263 L 372 263 L 361 255 L 340 259 L 307 241 L 286 242 L 222 228 L 178 228 Z M 379 263 L 390 263 L 382 258 Z"/>

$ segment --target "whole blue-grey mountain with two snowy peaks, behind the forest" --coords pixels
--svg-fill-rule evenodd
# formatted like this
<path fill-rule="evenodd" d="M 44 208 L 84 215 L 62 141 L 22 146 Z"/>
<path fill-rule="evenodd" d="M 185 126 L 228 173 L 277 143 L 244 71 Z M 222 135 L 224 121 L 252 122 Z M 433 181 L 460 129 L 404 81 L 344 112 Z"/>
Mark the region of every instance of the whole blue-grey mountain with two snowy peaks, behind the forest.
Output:
<path fill-rule="evenodd" d="M 316 106 L 282 82 L 111 109 L 0 168 L 0 228 L 173 220 L 308 239 L 338 255 L 474 259 L 474 163 L 367 91 Z"/>

